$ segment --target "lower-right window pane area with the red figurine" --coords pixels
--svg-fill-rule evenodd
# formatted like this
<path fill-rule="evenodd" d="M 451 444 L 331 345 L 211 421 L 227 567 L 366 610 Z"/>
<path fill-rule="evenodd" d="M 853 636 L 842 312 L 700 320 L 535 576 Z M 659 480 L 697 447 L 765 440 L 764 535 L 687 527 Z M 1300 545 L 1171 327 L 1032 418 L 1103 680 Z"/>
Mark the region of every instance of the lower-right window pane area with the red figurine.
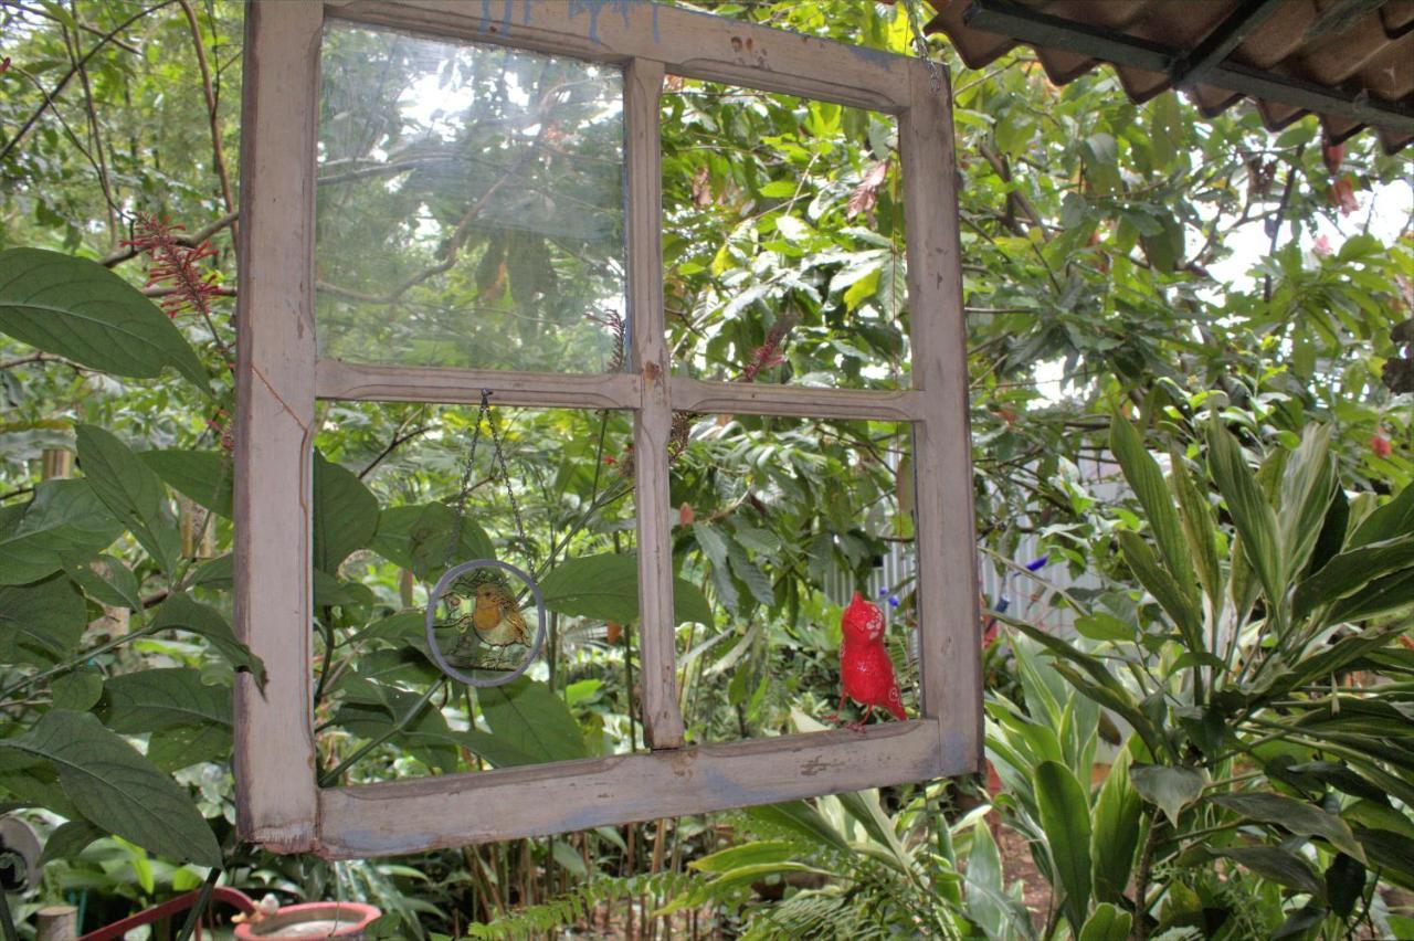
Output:
<path fill-rule="evenodd" d="M 691 742 L 837 728 L 870 706 L 871 723 L 918 718 L 911 452 L 906 422 L 693 424 L 673 472 L 674 548 L 713 623 L 677 630 Z M 847 612 L 850 663 L 870 668 L 841 709 Z"/>

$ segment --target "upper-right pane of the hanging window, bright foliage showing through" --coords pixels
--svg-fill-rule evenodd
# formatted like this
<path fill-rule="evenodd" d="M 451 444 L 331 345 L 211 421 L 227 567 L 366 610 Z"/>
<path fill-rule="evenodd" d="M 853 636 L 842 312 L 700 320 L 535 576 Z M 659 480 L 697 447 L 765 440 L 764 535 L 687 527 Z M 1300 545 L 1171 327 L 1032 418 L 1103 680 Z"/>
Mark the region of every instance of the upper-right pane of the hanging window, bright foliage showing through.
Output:
<path fill-rule="evenodd" d="M 674 372 L 908 387 L 896 122 L 672 76 L 662 126 Z"/>

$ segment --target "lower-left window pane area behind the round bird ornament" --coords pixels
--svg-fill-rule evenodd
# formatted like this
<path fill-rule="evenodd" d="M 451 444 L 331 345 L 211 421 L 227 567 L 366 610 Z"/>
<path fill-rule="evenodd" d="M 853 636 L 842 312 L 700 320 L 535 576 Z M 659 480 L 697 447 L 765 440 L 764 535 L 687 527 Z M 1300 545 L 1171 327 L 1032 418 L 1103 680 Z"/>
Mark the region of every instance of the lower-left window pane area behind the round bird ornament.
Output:
<path fill-rule="evenodd" d="M 325 401 L 318 418 L 310 681 L 325 776 L 368 783 L 641 749 L 635 503 L 619 470 L 632 415 L 495 408 L 475 455 L 475 407 Z M 544 599 L 540 653 L 502 687 L 448 680 L 427 640 L 437 582 L 478 560 L 523 569 Z M 437 612 L 433 643 L 458 671 L 508 678 L 529 650 L 503 627 L 516 612 L 536 632 L 539 609 L 518 576 L 478 584 L 477 572 L 493 574 L 479 565 L 452 582 L 461 612 Z M 506 589 L 495 622 L 478 616 L 488 584 Z"/>

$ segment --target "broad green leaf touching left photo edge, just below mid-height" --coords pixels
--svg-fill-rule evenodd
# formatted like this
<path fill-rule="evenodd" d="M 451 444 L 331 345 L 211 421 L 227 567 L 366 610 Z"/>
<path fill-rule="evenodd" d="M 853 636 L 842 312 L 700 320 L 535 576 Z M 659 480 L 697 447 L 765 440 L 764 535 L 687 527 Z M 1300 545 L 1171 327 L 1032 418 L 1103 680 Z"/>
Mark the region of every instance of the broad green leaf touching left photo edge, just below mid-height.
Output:
<path fill-rule="evenodd" d="M 93 555 L 123 534 L 88 480 L 44 480 L 20 524 L 0 534 L 0 585 L 24 585 L 62 568 L 68 552 Z"/>

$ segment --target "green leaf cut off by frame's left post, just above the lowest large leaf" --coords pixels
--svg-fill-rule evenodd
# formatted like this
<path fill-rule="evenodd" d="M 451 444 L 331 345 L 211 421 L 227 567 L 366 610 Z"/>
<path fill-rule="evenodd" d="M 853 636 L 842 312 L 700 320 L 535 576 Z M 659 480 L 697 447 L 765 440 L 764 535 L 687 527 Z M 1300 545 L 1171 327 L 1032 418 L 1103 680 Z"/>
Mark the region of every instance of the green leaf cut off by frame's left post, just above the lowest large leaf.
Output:
<path fill-rule="evenodd" d="M 182 725 L 230 725 L 230 690 L 204 684 L 201 670 L 189 667 L 112 677 L 103 699 L 105 723 L 123 735 Z"/>

